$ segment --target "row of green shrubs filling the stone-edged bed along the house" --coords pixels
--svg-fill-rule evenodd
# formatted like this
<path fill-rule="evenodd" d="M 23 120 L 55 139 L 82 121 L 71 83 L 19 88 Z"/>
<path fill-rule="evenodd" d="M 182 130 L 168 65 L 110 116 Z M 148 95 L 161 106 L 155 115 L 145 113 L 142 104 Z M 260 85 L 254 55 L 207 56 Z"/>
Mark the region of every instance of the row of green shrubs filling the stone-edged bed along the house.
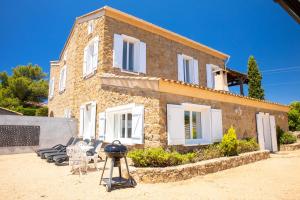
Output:
<path fill-rule="evenodd" d="M 254 138 L 237 140 L 231 127 L 224 135 L 220 144 L 201 146 L 190 153 L 181 154 L 163 148 L 136 149 L 128 153 L 136 167 L 167 167 L 185 163 L 209 160 L 223 156 L 234 156 L 239 153 L 257 151 L 259 146 Z"/>

